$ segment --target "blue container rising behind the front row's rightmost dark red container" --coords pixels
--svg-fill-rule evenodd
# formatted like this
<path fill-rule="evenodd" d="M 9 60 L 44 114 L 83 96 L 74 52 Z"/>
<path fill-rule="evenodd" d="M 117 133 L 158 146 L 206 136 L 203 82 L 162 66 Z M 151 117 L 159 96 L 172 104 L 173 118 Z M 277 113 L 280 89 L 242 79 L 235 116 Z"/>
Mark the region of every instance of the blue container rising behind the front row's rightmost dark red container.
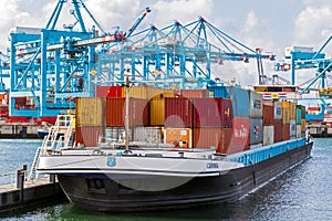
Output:
<path fill-rule="evenodd" d="M 212 86 L 209 87 L 209 96 L 230 98 L 232 116 L 249 117 L 249 91 L 238 86 Z"/>

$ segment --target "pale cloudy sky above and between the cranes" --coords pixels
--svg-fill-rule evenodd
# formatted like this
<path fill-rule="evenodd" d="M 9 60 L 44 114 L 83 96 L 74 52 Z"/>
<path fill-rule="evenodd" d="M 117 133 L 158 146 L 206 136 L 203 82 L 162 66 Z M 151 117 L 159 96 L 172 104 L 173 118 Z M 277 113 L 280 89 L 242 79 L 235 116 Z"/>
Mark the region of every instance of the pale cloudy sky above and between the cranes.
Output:
<path fill-rule="evenodd" d="M 13 27 L 45 28 L 58 0 L 11 0 L 0 8 L 0 50 L 9 46 L 9 34 Z M 70 1 L 69 1 L 70 2 Z M 126 30 L 139 17 L 145 7 L 152 13 L 141 27 L 155 24 L 159 28 L 172 24 L 174 20 L 186 24 L 204 17 L 234 39 L 251 49 L 261 48 L 272 52 L 277 60 L 283 59 L 287 46 L 312 46 L 319 50 L 332 33 L 331 0 L 85 0 L 90 11 L 105 31 L 114 27 Z M 71 15 L 63 10 L 59 25 L 70 24 Z M 89 27 L 90 19 L 85 20 Z M 331 57 L 331 46 L 323 52 Z M 232 62 L 226 67 L 216 67 L 221 77 L 236 77 L 242 84 L 256 84 L 256 62 L 243 64 Z M 264 61 L 264 73 L 274 74 L 274 63 Z M 227 71 L 225 71 L 227 69 Z M 222 72 L 226 74 L 222 75 Z M 230 74 L 231 73 L 231 74 Z M 217 74 L 217 75 L 218 75 Z M 299 73 L 297 78 L 307 80 Z M 289 73 L 280 73 L 290 78 Z"/>

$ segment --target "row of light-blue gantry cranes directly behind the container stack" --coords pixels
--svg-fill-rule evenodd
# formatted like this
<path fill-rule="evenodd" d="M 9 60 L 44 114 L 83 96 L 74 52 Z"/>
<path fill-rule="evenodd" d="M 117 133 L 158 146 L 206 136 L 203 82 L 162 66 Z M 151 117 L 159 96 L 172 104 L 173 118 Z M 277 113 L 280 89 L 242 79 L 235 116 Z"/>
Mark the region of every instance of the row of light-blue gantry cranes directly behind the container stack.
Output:
<path fill-rule="evenodd" d="M 203 87 L 212 80 L 211 66 L 225 61 L 273 60 L 219 30 L 204 18 L 183 25 L 179 21 L 133 34 L 122 44 L 98 53 L 97 78 L 122 84 L 131 82 L 159 87 Z M 222 75 L 217 75 L 222 80 Z"/>

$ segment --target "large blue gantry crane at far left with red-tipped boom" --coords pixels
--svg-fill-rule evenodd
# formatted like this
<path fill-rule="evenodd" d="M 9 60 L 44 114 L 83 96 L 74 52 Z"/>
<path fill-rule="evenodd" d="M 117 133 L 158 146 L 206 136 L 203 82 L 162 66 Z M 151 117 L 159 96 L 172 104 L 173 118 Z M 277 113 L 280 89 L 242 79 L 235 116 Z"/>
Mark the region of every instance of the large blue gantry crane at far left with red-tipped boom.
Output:
<path fill-rule="evenodd" d="M 73 7 L 74 22 L 60 29 L 65 3 Z M 83 11 L 94 22 L 91 30 L 85 27 Z M 21 28 L 11 33 L 10 116 L 56 116 L 74 108 L 75 97 L 93 96 L 96 46 L 126 40 L 149 11 L 146 8 L 127 33 L 110 34 L 83 0 L 59 0 L 44 29 Z"/>

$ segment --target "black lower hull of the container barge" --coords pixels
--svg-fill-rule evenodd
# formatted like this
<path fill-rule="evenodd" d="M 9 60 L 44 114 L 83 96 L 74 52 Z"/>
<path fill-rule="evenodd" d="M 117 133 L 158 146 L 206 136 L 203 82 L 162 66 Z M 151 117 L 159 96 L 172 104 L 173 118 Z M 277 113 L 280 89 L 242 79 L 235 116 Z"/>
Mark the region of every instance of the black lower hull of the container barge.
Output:
<path fill-rule="evenodd" d="M 160 191 L 127 188 L 104 175 L 58 175 L 58 179 L 71 202 L 90 210 L 120 212 L 178 209 L 203 203 L 236 201 L 308 159 L 311 148 L 312 143 L 261 162 L 229 170 L 225 175 L 196 177 L 178 187 Z M 160 179 L 163 178 L 154 177 L 151 178 L 151 182 L 160 182 Z M 89 183 L 91 180 L 93 182 L 102 180 L 103 183 L 100 187 L 91 187 Z M 132 181 L 139 182 L 139 178 Z"/>

